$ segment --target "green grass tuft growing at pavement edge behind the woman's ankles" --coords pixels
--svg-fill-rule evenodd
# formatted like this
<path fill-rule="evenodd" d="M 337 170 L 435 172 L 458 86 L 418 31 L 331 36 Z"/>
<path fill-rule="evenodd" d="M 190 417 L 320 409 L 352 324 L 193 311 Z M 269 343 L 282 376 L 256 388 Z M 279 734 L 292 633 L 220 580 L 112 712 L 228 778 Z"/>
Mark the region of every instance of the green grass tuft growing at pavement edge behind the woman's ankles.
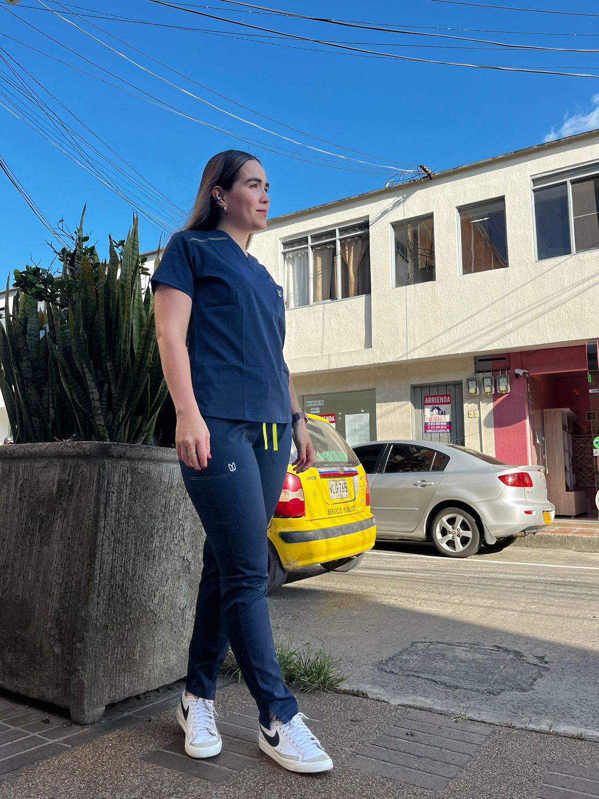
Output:
<path fill-rule="evenodd" d="M 339 661 L 327 654 L 323 644 L 312 646 L 311 643 L 306 643 L 294 647 L 289 638 L 287 642 L 276 643 L 275 651 L 283 682 L 298 691 L 331 691 L 347 679 L 338 670 Z M 228 650 L 220 673 L 241 678 L 241 670 L 232 650 Z"/>

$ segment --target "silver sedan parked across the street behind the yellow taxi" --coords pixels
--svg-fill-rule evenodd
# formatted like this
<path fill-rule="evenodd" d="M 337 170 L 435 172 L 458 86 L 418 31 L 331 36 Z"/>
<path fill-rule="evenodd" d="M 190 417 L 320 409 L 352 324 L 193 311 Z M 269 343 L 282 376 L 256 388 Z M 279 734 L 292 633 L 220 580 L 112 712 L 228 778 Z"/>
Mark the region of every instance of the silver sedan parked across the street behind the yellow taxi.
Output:
<path fill-rule="evenodd" d="M 545 467 L 511 466 L 482 452 L 430 441 L 353 447 L 367 473 L 377 539 L 430 540 L 467 558 L 553 522 Z"/>

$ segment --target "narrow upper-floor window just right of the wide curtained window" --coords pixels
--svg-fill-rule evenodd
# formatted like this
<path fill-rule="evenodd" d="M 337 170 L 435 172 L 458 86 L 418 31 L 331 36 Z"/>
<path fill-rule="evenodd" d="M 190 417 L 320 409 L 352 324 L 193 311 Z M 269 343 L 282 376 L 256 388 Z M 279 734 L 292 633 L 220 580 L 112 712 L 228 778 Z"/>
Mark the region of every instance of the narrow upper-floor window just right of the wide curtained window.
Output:
<path fill-rule="evenodd" d="M 410 219 L 393 226 L 395 286 L 434 280 L 433 217 Z"/>

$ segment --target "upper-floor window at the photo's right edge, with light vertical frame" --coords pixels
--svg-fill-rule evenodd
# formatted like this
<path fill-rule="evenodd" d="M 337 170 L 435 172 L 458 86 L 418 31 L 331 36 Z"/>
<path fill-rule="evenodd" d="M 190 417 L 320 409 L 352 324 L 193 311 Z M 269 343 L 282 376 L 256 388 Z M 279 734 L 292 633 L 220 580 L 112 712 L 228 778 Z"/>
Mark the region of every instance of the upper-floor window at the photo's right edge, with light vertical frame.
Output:
<path fill-rule="evenodd" d="M 597 165 L 537 178 L 533 197 L 538 260 L 599 248 Z"/>

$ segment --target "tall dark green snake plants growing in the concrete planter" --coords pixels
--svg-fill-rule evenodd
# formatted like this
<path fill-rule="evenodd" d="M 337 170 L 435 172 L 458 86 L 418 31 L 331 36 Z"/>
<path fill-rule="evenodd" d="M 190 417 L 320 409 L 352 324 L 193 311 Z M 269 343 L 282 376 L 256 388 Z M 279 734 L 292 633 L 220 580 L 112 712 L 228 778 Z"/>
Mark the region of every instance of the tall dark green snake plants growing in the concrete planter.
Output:
<path fill-rule="evenodd" d="M 109 237 L 108 261 L 86 244 L 82 222 L 73 249 L 57 252 L 60 276 L 37 267 L 15 270 L 11 312 L 6 282 L 0 392 L 14 443 L 155 443 L 168 392 L 153 296 L 141 283 L 147 271 L 137 217 L 124 242 Z"/>

